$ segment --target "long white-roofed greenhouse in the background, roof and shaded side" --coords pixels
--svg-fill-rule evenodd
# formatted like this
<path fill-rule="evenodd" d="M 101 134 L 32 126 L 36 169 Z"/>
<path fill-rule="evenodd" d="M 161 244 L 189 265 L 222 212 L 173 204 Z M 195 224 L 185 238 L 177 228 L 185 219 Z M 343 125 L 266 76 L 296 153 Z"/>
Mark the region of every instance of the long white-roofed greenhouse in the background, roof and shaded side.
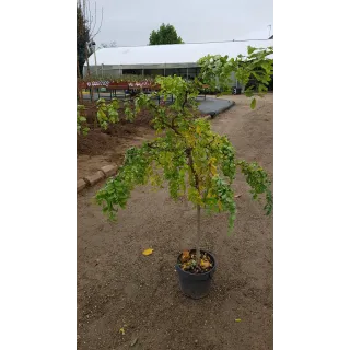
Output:
<path fill-rule="evenodd" d="M 273 39 L 103 48 L 90 56 L 89 66 L 90 72 L 100 77 L 176 74 L 194 79 L 201 57 L 247 55 L 248 46 L 267 48 L 273 46 Z M 86 72 L 85 63 L 84 75 Z"/>

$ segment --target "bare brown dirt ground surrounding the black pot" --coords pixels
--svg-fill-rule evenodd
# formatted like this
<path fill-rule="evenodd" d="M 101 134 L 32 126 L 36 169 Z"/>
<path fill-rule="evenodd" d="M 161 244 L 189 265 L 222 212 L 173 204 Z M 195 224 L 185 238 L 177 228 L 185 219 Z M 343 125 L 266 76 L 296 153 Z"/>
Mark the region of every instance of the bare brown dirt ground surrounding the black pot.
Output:
<path fill-rule="evenodd" d="M 233 96 L 236 105 L 212 121 L 238 156 L 271 174 L 272 98 L 252 112 L 246 97 Z M 78 197 L 78 349 L 272 349 L 272 218 L 241 177 L 235 187 L 235 233 L 228 236 L 225 214 L 202 221 L 202 246 L 214 253 L 218 270 L 199 301 L 182 294 L 174 269 L 179 252 L 194 246 L 195 210 L 166 190 L 140 187 L 112 224 L 93 203 L 98 187 Z M 153 255 L 142 256 L 149 247 Z"/>

